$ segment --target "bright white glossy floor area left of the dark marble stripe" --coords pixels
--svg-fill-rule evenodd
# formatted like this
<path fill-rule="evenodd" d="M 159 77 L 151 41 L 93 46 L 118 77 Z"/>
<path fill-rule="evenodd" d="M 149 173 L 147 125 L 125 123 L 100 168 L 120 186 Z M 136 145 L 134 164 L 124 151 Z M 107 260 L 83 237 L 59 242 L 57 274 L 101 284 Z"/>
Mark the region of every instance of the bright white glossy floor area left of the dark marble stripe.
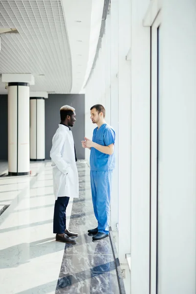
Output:
<path fill-rule="evenodd" d="M 10 204 L 0 216 L 3 294 L 54 294 L 64 254 L 65 245 L 56 242 L 52 233 L 51 164 L 32 163 L 30 167 L 31 176 L 0 178 L 0 204 Z M 69 216 L 71 209 L 72 201 Z"/>

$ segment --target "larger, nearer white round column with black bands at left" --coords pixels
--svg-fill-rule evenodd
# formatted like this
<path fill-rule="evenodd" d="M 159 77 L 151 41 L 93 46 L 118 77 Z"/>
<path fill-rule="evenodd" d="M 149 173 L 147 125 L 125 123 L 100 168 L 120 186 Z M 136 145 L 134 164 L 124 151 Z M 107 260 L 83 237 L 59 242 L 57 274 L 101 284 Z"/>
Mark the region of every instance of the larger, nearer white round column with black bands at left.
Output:
<path fill-rule="evenodd" d="M 8 174 L 29 173 L 29 84 L 9 82 Z"/>

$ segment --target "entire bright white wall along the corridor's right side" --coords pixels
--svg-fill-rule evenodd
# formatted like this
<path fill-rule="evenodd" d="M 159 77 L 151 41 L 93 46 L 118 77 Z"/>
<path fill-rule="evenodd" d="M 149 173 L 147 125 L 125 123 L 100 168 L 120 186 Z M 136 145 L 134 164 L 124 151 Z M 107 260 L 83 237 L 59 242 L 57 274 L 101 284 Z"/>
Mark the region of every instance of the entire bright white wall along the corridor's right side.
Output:
<path fill-rule="evenodd" d="M 117 206 L 111 203 L 111 224 L 115 229 L 117 221 L 123 223 L 121 212 L 123 204 L 126 205 L 124 223 L 131 225 L 131 234 L 127 232 L 127 225 L 126 237 L 123 238 L 123 227 L 119 225 L 119 235 L 121 243 L 126 242 L 126 238 L 131 241 L 131 293 L 195 294 L 196 1 L 162 0 L 158 16 L 158 80 L 157 72 L 154 75 L 157 55 L 153 55 L 157 54 L 158 43 L 154 39 L 157 28 L 152 29 L 151 36 L 149 22 L 145 23 L 148 26 L 143 25 L 149 3 L 155 3 L 148 19 L 154 28 L 160 1 L 111 0 L 111 27 L 103 39 L 109 40 L 109 31 L 111 78 L 108 79 L 103 65 L 109 47 L 104 49 L 103 45 L 86 88 L 86 116 L 89 122 L 89 108 L 95 103 L 108 105 L 107 108 L 110 105 L 111 124 L 116 124 L 120 164 L 115 177 L 115 191 L 118 191 L 115 199 L 119 211 L 116 212 Z M 130 26 L 128 11 L 131 11 Z M 152 47 L 151 37 L 155 40 Z M 128 42 L 131 42 L 131 60 L 126 63 L 123 56 Z M 154 101 L 158 101 L 158 109 Z M 90 123 L 86 125 L 86 132 L 91 136 L 93 127 Z M 154 173 L 157 168 L 158 182 Z M 127 176 L 123 177 L 125 170 Z M 131 183 L 130 191 L 128 181 Z M 127 195 L 131 196 L 131 207 L 128 207 L 128 197 L 122 197 L 124 185 Z M 130 216 L 131 220 L 128 219 Z M 119 245 L 120 262 L 124 262 L 123 255 L 129 252 L 126 246 Z"/>

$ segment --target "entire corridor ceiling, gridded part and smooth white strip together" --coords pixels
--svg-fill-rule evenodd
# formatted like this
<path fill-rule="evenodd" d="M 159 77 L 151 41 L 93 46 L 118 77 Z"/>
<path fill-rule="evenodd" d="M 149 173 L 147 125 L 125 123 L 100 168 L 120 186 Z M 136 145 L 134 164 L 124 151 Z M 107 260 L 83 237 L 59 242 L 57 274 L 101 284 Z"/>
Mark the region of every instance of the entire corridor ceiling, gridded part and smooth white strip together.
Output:
<path fill-rule="evenodd" d="M 30 91 L 79 93 L 94 62 L 103 7 L 104 0 L 0 0 L 0 74 L 33 74 Z M 0 94 L 7 94 L 1 81 Z"/>

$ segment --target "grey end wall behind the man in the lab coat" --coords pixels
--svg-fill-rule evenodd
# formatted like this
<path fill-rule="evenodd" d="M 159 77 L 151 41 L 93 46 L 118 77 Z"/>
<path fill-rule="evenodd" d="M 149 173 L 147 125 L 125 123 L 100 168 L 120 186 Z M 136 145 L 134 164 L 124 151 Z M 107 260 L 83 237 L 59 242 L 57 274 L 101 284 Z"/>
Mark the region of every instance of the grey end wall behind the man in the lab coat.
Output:
<path fill-rule="evenodd" d="M 46 113 L 46 159 L 50 159 L 52 137 L 60 123 L 60 108 L 63 105 L 75 108 L 76 122 L 72 128 L 78 159 L 85 158 L 85 150 L 81 147 L 81 140 L 85 135 L 85 96 L 83 94 L 50 94 L 45 100 Z"/>

